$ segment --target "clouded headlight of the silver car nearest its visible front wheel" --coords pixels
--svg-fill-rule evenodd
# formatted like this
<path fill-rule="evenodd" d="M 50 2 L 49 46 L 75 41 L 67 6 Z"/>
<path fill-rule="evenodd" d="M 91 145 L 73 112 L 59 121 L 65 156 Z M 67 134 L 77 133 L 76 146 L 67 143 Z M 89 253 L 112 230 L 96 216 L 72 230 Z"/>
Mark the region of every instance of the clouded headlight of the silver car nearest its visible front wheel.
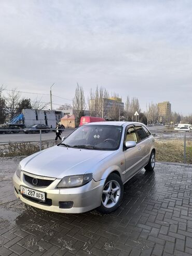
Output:
<path fill-rule="evenodd" d="M 64 177 L 58 184 L 57 187 L 77 187 L 83 186 L 91 181 L 93 178 L 92 173 L 73 175 Z"/>

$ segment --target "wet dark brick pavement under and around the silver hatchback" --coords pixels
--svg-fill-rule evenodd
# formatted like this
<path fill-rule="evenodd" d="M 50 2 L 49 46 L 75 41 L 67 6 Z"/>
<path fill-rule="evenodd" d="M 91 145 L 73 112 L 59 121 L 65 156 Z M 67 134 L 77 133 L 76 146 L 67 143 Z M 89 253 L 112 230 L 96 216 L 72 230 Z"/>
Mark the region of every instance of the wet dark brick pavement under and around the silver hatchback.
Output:
<path fill-rule="evenodd" d="M 16 199 L 18 163 L 0 158 L 0 255 L 192 255 L 192 166 L 143 169 L 112 214 L 60 214 Z"/>

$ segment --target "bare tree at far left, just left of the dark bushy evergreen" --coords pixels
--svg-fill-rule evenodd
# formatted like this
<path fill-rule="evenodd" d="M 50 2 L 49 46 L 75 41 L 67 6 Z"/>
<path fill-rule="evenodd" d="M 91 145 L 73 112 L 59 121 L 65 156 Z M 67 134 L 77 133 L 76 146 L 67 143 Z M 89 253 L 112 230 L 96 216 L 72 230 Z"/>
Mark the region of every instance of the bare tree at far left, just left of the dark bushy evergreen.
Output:
<path fill-rule="evenodd" d="M 19 91 L 16 91 L 16 88 L 8 92 L 7 97 L 5 97 L 5 105 L 6 110 L 10 115 L 10 118 L 13 118 L 17 114 L 17 109 L 20 102 L 21 93 Z"/>

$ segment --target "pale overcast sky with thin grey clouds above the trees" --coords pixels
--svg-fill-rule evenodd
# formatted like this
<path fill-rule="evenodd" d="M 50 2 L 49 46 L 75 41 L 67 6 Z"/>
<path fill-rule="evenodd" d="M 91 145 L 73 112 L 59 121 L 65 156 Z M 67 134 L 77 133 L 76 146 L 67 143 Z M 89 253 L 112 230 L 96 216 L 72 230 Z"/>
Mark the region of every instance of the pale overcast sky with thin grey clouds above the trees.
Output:
<path fill-rule="evenodd" d="M 192 1 L 0 1 L 0 83 L 72 99 L 76 83 L 192 113 Z M 34 95 L 24 94 L 34 98 Z M 49 101 L 49 96 L 42 96 Z M 71 101 L 53 97 L 57 104 Z"/>

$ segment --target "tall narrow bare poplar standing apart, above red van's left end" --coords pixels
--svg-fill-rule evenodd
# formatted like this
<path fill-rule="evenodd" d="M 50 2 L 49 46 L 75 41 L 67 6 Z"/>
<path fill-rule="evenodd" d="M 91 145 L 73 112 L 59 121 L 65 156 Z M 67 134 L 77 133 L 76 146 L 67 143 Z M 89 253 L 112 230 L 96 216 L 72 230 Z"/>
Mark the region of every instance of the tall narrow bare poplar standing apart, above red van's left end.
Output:
<path fill-rule="evenodd" d="M 80 122 L 81 116 L 84 115 L 84 110 L 86 109 L 84 89 L 80 87 L 77 83 L 77 87 L 75 89 L 75 97 L 73 98 L 73 110 L 77 117 L 77 125 Z"/>

